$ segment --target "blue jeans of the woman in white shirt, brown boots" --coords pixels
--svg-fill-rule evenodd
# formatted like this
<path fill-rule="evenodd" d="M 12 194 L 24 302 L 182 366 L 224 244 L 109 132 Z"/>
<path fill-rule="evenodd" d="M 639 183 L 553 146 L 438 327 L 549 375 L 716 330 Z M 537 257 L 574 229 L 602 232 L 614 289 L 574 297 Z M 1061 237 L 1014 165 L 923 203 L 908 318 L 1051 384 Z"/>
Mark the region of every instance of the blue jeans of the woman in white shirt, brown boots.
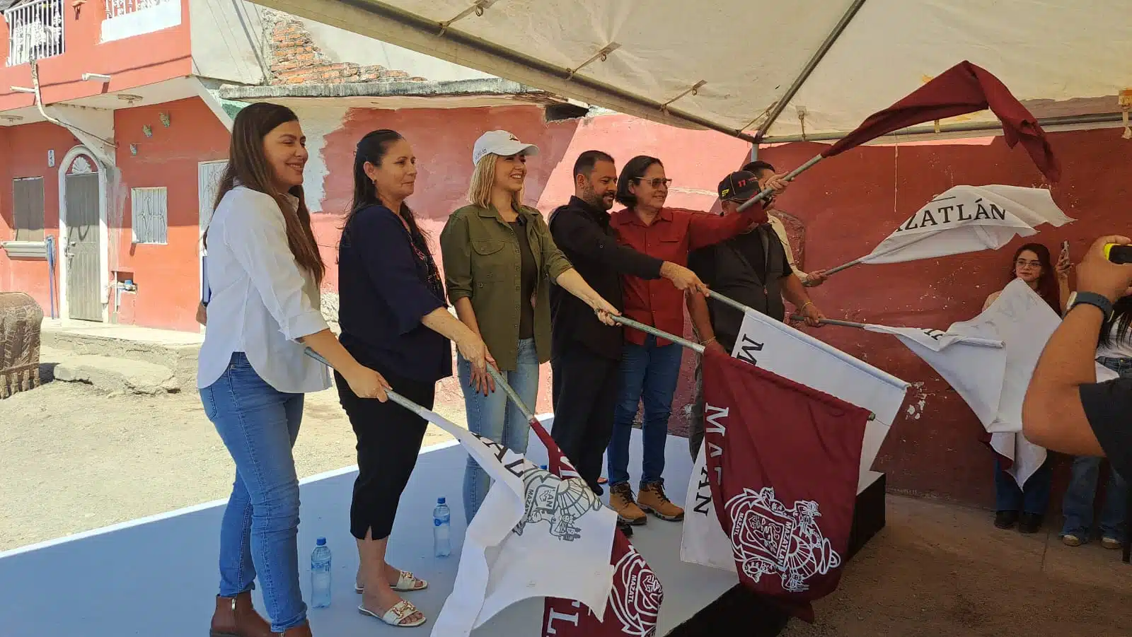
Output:
<path fill-rule="evenodd" d="M 299 479 L 291 455 L 302 399 L 259 378 L 240 352 L 200 390 L 205 415 L 235 462 L 220 526 L 220 594 L 250 591 L 258 575 L 275 632 L 307 621 L 299 588 Z"/>

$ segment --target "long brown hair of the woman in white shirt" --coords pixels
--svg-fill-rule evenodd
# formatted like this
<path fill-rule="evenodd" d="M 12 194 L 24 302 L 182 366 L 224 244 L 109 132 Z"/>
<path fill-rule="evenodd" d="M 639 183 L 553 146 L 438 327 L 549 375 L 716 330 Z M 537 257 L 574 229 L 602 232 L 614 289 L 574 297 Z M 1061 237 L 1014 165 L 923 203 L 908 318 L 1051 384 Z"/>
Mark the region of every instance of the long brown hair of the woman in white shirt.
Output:
<path fill-rule="evenodd" d="M 246 106 L 235 115 L 232 122 L 232 141 L 228 150 L 228 169 L 221 178 L 220 190 L 213 201 L 213 210 L 220 206 L 224 195 L 237 186 L 258 190 L 271 195 L 280 206 L 283 222 L 286 225 L 286 242 L 299 266 L 310 272 L 316 283 L 321 283 L 326 275 L 326 265 L 318 252 L 315 233 L 310 229 L 310 210 L 303 198 L 302 187 L 292 186 L 286 192 L 299 198 L 298 208 L 293 208 L 284 192 L 275 187 L 272 167 L 264 154 L 264 138 L 275 128 L 298 121 L 294 111 L 278 104 L 258 102 Z M 205 248 L 208 247 L 208 231 L 205 231 Z"/>

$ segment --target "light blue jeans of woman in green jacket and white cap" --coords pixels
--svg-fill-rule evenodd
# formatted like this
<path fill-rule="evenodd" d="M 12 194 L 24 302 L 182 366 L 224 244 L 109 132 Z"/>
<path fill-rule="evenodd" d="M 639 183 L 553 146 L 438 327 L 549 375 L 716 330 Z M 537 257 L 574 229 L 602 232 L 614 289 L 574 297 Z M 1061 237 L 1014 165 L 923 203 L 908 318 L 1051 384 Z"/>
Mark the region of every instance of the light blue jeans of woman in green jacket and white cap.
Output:
<path fill-rule="evenodd" d="M 507 394 L 499 387 L 484 396 L 472 388 L 472 363 L 463 356 L 456 359 L 460 372 L 460 387 L 464 390 L 464 410 L 468 412 L 468 430 L 489 438 L 517 454 L 526 453 L 526 438 L 531 427 L 518 406 L 507 399 Z M 518 342 L 518 361 L 515 371 L 500 370 L 507 385 L 511 385 L 523 403 L 534 410 L 534 401 L 539 397 L 539 355 L 534 351 L 534 339 L 523 338 Z M 480 510 L 483 498 L 491 488 L 491 479 L 471 456 L 464 468 L 464 517 L 471 523 Z"/>

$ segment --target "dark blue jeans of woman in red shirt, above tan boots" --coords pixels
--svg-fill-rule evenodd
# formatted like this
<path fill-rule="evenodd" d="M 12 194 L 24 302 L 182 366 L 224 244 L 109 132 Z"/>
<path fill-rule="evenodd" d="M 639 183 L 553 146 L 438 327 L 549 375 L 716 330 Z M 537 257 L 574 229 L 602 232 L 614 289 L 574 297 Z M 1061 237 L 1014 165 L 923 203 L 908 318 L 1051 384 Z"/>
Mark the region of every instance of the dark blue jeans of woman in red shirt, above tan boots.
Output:
<path fill-rule="evenodd" d="M 644 345 L 626 342 L 621 348 L 620 387 L 614 411 L 614 436 L 607 450 L 609 484 L 629 481 L 629 437 L 637 405 L 644 399 L 644 439 L 641 462 L 641 485 L 663 482 L 664 442 L 668 440 L 668 416 L 672 413 L 672 395 L 680 378 L 680 345 L 658 346 L 657 337 L 645 336 Z"/>

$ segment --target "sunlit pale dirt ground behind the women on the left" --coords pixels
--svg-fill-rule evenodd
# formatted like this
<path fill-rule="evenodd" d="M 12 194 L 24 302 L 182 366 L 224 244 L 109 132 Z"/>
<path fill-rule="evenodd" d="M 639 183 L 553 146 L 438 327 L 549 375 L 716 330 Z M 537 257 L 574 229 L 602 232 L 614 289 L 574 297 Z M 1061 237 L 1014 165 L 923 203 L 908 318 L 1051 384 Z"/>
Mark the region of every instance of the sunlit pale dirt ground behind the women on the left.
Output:
<path fill-rule="evenodd" d="M 429 425 L 424 445 L 451 439 Z M 354 440 L 337 393 L 308 394 L 299 477 L 357 464 Z M 61 381 L 0 401 L 0 551 L 226 498 L 235 475 L 196 391 L 113 396 Z"/>

